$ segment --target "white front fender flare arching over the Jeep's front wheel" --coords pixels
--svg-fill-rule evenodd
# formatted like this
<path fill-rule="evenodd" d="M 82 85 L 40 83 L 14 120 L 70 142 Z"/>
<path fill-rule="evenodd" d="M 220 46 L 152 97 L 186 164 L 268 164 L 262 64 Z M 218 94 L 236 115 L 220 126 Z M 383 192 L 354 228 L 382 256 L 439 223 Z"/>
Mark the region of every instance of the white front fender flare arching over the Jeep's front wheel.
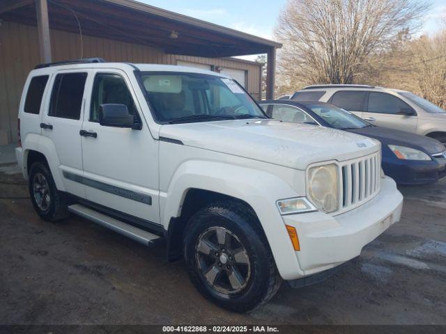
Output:
<path fill-rule="evenodd" d="M 287 268 L 300 267 L 276 201 L 299 196 L 277 175 L 262 170 L 213 161 L 186 161 L 174 173 L 167 192 L 160 193 L 161 221 L 168 228 L 172 217 L 180 216 L 189 189 L 203 189 L 238 198 L 249 204 L 268 238 L 282 278 Z"/>

